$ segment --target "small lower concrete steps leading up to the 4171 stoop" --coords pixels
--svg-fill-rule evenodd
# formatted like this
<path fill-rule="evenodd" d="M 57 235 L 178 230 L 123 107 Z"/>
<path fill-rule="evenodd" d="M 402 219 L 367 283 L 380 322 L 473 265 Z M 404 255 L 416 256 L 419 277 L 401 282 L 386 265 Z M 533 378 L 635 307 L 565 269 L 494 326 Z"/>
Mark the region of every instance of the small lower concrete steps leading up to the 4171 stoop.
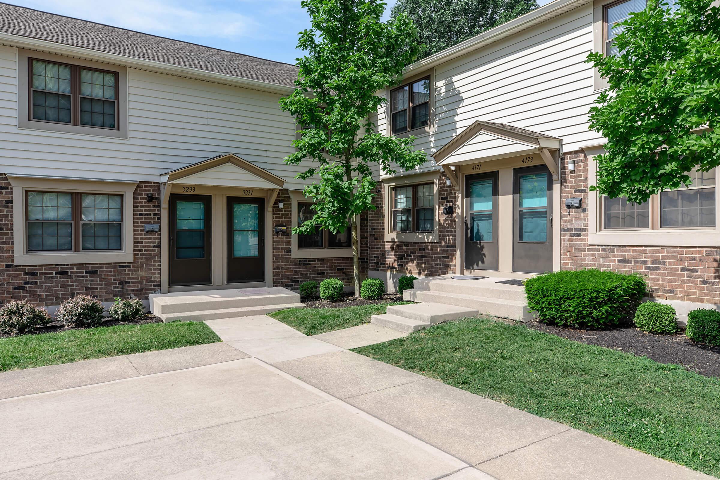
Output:
<path fill-rule="evenodd" d="M 387 307 L 386 314 L 373 315 L 371 323 L 410 333 L 441 322 L 476 315 L 477 310 L 454 305 L 434 303 L 392 305 Z"/>

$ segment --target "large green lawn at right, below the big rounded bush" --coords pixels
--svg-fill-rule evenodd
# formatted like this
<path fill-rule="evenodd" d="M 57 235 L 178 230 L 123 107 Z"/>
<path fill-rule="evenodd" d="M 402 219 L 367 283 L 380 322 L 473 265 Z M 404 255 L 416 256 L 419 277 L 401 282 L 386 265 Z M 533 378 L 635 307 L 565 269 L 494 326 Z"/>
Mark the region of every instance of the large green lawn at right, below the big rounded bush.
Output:
<path fill-rule="evenodd" d="M 482 318 L 354 351 L 720 476 L 720 379 Z"/>

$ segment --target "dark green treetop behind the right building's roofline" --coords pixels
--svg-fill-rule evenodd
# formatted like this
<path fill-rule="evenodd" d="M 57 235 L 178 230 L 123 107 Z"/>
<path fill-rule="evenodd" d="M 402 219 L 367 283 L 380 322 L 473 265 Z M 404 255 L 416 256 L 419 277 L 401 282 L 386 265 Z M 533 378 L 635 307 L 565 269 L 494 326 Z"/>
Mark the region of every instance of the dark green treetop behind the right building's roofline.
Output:
<path fill-rule="evenodd" d="M 390 18 L 413 20 L 424 58 L 537 7 L 535 0 L 397 0 Z"/>

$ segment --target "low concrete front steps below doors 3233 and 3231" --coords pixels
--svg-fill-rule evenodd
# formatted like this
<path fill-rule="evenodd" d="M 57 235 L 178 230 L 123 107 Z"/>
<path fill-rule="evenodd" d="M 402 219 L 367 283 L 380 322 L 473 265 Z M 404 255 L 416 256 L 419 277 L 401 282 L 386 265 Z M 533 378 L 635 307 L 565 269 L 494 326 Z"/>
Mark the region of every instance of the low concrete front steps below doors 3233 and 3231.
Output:
<path fill-rule="evenodd" d="M 178 291 L 150 295 L 150 311 L 163 314 L 190 314 L 209 310 L 248 309 L 300 303 L 300 294 L 280 286 L 258 289 Z M 272 312 L 274 310 L 270 310 Z M 207 320 L 207 319 L 204 319 Z"/>

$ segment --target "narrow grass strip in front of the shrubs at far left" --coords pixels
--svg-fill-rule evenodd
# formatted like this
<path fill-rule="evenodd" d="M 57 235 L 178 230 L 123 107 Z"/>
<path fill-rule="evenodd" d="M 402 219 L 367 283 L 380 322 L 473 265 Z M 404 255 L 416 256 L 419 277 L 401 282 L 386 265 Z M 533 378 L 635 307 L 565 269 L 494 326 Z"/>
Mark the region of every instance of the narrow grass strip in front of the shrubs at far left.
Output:
<path fill-rule="evenodd" d="M 204 322 L 114 325 L 0 338 L 0 371 L 219 342 Z"/>

